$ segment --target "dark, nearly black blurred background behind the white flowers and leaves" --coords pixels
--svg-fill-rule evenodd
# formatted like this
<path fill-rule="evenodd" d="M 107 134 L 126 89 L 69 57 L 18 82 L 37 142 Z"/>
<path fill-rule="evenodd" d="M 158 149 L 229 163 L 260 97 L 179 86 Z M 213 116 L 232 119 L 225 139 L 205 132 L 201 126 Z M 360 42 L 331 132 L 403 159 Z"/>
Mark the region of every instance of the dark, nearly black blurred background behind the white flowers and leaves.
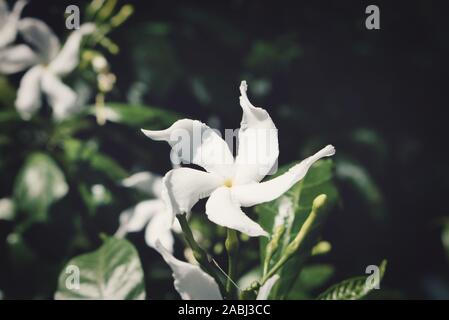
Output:
<path fill-rule="evenodd" d="M 74 3 L 83 8 L 87 2 L 32 0 L 24 15 L 45 20 L 64 36 L 62 13 Z M 107 101 L 167 111 L 148 123 L 154 128 L 176 117 L 237 128 L 238 85 L 247 80 L 252 101 L 268 110 L 279 129 L 281 165 L 327 143 L 337 148 L 341 198 L 324 230 L 332 251 L 320 258 L 335 267 L 333 279 L 363 274 L 386 258 L 385 290 L 375 297 L 449 298 L 449 253 L 442 241 L 449 225 L 444 1 L 119 3 L 133 4 L 135 12 L 110 35 L 120 52 L 107 55 L 117 76 Z M 369 4 L 380 7 L 381 30 L 365 28 Z M 19 79 L 1 78 L 2 92 L 16 88 Z M 11 107 L 5 97 L 1 108 Z M 26 134 L 30 126 L 1 124 L 0 136 L 14 143 L 1 149 L 0 198 L 13 192 L 23 150 L 35 148 Z M 170 168 L 169 148 L 135 127 L 108 123 L 76 137 L 98 143 L 127 173 L 164 174 Z M 69 193 L 45 222 L 20 227 L 0 221 L 5 297 L 50 298 L 63 263 L 98 246 L 98 234 L 113 234 L 119 213 L 136 202 L 132 191 L 114 184 L 120 174 L 76 170 L 77 179 L 106 185 L 114 200 L 80 221 L 74 217 L 86 215 L 86 208 Z M 20 234 L 14 246 L 7 240 L 11 233 Z M 176 297 L 168 269 L 143 234 L 128 238 L 139 248 L 148 296 Z M 246 261 L 251 259 L 257 254 Z"/>

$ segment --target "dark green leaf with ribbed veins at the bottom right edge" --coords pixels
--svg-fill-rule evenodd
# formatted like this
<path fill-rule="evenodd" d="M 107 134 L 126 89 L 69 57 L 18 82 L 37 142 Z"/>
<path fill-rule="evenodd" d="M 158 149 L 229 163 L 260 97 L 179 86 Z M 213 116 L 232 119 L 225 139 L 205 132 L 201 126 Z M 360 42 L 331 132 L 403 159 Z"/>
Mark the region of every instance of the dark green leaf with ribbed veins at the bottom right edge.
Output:
<path fill-rule="evenodd" d="M 380 285 L 385 274 L 387 261 L 384 260 L 379 266 L 379 277 L 374 275 L 360 276 L 344 280 L 327 289 L 318 296 L 318 300 L 358 300 Z M 370 280 L 374 282 L 369 282 Z"/>

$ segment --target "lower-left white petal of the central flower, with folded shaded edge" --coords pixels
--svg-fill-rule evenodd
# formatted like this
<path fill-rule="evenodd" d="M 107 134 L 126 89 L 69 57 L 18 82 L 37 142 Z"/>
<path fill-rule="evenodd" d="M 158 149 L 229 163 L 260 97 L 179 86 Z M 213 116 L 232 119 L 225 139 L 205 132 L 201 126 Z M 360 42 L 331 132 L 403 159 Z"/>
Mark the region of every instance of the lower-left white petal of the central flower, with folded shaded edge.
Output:
<path fill-rule="evenodd" d="M 171 221 L 175 215 L 189 213 L 198 200 L 211 194 L 223 184 L 223 179 L 214 174 L 191 168 L 170 170 L 162 179 L 162 199 Z"/>

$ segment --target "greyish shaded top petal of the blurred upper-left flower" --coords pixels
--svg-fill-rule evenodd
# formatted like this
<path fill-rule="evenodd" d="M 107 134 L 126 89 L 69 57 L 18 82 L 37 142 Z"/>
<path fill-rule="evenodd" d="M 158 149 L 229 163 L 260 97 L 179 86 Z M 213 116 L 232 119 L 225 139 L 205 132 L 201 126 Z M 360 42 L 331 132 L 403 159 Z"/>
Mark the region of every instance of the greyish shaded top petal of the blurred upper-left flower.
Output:
<path fill-rule="evenodd" d="M 43 63 L 50 62 L 61 48 L 61 44 L 56 35 L 41 20 L 24 18 L 19 21 L 19 31 L 25 41 L 36 48 Z"/>

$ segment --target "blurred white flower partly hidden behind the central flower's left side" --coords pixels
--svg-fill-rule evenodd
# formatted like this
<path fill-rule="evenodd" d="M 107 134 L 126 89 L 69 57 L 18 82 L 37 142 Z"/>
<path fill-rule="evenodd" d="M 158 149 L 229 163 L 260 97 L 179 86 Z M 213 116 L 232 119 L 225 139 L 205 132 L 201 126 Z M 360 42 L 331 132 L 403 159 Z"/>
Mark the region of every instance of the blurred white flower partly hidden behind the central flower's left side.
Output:
<path fill-rule="evenodd" d="M 161 199 L 162 177 L 151 172 L 139 172 L 123 180 L 122 185 L 142 191 L 154 199 L 139 202 L 122 212 L 117 236 L 141 231 L 146 226 L 145 242 L 148 246 L 155 248 L 156 241 L 160 240 L 165 248 L 173 252 L 173 232 L 181 232 L 181 226 L 175 223 L 170 227 L 170 215 Z"/>

